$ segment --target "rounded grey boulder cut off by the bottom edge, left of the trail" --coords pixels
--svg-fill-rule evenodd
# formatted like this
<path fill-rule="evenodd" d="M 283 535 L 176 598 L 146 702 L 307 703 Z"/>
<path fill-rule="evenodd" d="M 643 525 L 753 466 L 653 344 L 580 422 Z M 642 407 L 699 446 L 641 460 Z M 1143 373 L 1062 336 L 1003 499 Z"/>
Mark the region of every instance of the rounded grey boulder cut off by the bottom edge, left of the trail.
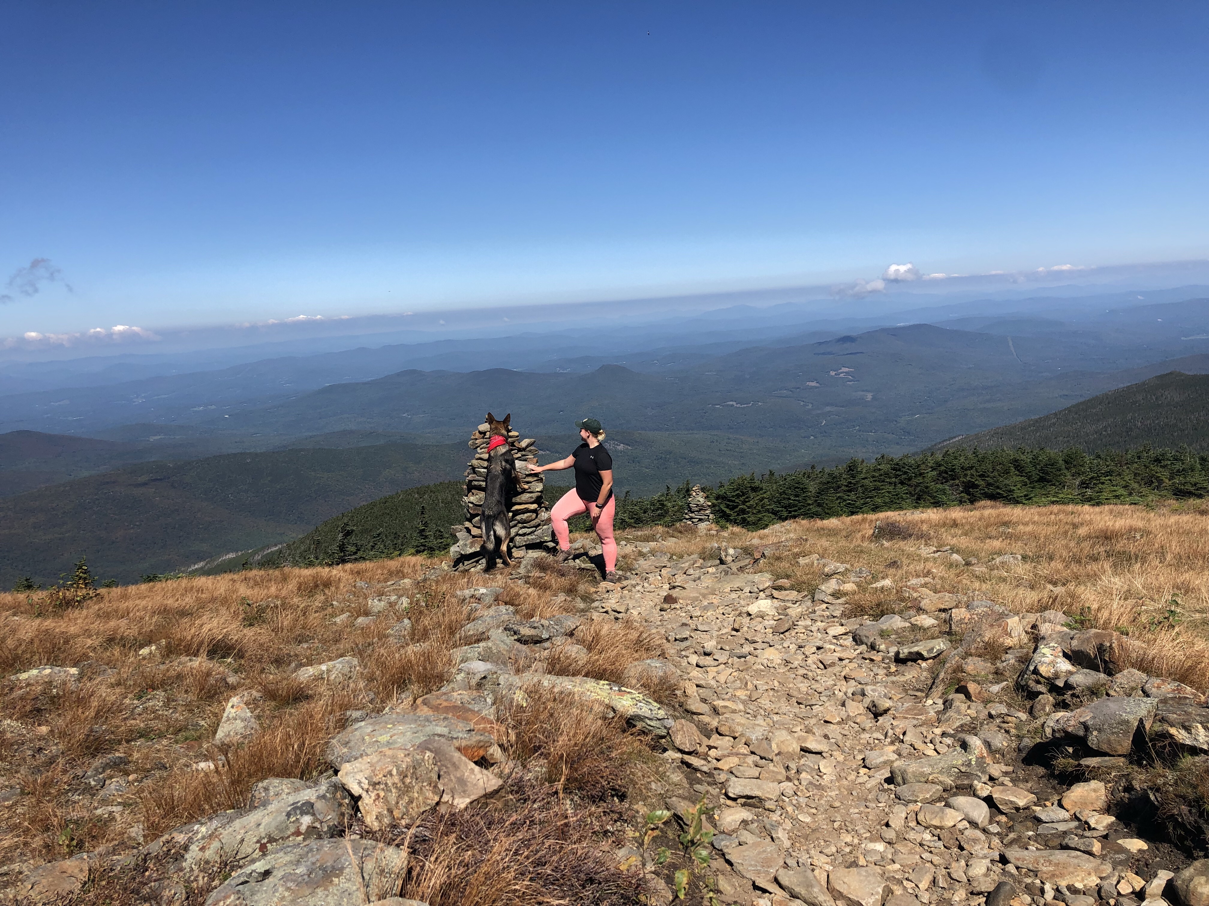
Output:
<path fill-rule="evenodd" d="M 361 906 L 398 890 L 407 854 L 369 840 L 290 843 L 214 890 L 206 906 Z"/>

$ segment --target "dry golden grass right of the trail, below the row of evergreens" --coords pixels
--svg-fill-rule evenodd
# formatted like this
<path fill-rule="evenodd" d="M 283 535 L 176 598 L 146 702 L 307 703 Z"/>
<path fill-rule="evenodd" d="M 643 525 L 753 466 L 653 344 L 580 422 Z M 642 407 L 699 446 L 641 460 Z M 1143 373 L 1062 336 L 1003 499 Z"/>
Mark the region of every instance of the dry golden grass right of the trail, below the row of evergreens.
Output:
<path fill-rule="evenodd" d="M 877 521 L 903 525 L 910 538 L 874 540 Z M 713 542 L 752 550 L 785 540 L 788 550 L 769 554 L 762 568 L 793 587 L 814 588 L 816 567 L 798 558 L 817 553 L 864 565 L 874 580 L 895 588 L 849 596 L 867 614 L 887 612 L 904 602 L 903 582 L 931 577 L 936 592 L 972 593 L 1025 614 L 1063 610 L 1089 628 L 1128 633 L 1147 646 L 1138 668 L 1209 689 L 1209 505 L 1005 506 L 968 507 L 800 521 L 764 532 L 741 529 L 715 535 L 664 533 L 676 554 L 700 553 Z M 650 533 L 647 533 L 648 535 Z M 630 538 L 629 533 L 625 534 Z M 1002 553 L 1023 562 L 1007 567 L 956 567 L 920 552 L 920 538 L 951 546 L 967 561 L 985 564 Z M 897 565 L 889 565 L 897 562 Z"/>

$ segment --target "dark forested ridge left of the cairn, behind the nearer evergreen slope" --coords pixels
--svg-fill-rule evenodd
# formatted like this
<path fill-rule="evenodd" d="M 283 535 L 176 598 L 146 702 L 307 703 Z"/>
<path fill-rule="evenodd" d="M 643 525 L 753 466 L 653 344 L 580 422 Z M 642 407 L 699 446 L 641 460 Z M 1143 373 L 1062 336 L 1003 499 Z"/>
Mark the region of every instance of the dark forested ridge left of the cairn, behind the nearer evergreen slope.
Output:
<path fill-rule="evenodd" d="M 0 587 L 51 581 L 87 554 L 137 581 L 225 551 L 284 541 L 400 487 L 461 475 L 462 445 L 232 453 L 146 463 L 0 500 Z"/>

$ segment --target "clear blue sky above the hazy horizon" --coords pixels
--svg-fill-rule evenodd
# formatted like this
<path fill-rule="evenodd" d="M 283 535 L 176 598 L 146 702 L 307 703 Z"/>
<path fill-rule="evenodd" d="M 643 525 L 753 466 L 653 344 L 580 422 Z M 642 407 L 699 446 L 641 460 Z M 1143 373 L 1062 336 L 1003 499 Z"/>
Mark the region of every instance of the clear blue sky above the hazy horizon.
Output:
<path fill-rule="evenodd" d="M 1209 257 L 1207 8 L 0 2 L 0 336 Z"/>

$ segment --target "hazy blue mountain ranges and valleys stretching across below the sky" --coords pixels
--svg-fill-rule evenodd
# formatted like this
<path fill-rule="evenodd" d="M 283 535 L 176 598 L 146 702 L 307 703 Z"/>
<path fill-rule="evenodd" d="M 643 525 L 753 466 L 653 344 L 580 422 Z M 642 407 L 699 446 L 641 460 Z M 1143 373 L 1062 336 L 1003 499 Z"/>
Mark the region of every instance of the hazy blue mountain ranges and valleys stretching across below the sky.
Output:
<path fill-rule="evenodd" d="M 1209 301 L 1146 296 L 837 309 L 826 320 L 797 303 L 735 307 L 641 330 L 254 362 L 226 350 L 186 356 L 208 370 L 184 373 L 149 373 L 172 367 L 167 359 L 5 366 L 25 387 L 83 384 L 0 394 L 0 429 L 10 429 L 0 434 L 0 586 L 52 580 L 82 553 L 102 576 L 132 581 L 297 538 L 351 507 L 457 477 L 464 437 L 488 410 L 510 412 L 550 457 L 578 442 L 575 419 L 600 418 L 618 488 L 638 495 L 686 478 L 915 452 L 958 434 L 962 443 L 1008 437 L 1017 423 L 1048 425 L 1047 413 L 1173 370 L 1209 373 Z M 1184 436 L 1174 420 L 1158 436 L 1157 423 L 1118 431 L 1104 418 L 1072 442 Z M 1037 442 L 1066 442 L 1046 437 Z"/>

